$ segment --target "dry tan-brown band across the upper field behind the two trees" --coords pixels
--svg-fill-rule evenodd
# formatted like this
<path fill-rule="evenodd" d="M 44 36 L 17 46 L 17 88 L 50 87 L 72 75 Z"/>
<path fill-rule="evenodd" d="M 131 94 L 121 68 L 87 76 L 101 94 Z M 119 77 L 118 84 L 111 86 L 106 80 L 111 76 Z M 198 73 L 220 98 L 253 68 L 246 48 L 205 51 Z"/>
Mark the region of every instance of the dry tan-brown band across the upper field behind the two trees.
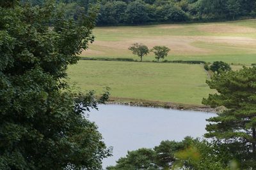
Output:
<path fill-rule="evenodd" d="M 209 54 L 211 49 L 194 46 L 195 42 L 227 44 L 237 48 L 256 48 L 256 39 L 245 37 L 226 37 L 226 36 L 154 36 L 152 38 L 133 38 L 123 41 L 95 41 L 93 50 L 87 50 L 82 55 L 104 55 L 105 53 L 126 53 L 127 48 L 132 43 L 143 43 L 152 48 L 155 45 L 167 46 L 174 54 Z M 94 49 L 99 49 L 99 51 Z"/>

